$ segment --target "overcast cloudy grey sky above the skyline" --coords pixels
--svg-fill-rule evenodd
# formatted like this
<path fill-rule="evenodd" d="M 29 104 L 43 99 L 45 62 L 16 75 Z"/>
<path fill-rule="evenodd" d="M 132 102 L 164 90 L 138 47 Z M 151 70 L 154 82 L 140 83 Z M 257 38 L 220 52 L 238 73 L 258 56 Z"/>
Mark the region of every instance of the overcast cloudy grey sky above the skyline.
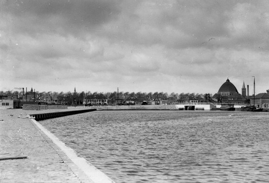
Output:
<path fill-rule="evenodd" d="M 0 91 L 269 89 L 268 0 L 0 0 Z"/>

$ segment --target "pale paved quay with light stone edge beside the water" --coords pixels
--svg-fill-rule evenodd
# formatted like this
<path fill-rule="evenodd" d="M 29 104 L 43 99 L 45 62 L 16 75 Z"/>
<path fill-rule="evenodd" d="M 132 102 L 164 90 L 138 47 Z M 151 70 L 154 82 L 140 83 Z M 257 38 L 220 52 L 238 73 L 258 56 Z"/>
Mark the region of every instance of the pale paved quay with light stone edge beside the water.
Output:
<path fill-rule="evenodd" d="M 81 108 L 64 111 L 72 110 Z M 34 119 L 22 118 L 54 112 L 62 110 L 0 110 L 0 183 L 114 183 Z"/>

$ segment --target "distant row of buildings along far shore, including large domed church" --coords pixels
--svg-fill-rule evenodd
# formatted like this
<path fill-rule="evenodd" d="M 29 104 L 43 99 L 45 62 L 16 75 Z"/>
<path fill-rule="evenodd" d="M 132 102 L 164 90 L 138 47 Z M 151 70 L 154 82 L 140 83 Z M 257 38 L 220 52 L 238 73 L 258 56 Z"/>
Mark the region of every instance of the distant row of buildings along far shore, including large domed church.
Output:
<path fill-rule="evenodd" d="M 52 94 L 45 94 L 40 96 L 31 88 L 30 91 L 26 92 L 23 88 L 22 98 L 18 99 L 17 95 L 7 95 L 0 96 L 0 108 L 20 108 L 23 104 L 56 104 L 56 105 L 135 105 L 135 104 L 150 104 L 150 105 L 171 105 L 171 104 L 194 104 L 197 105 L 201 102 L 206 103 L 229 103 L 235 105 L 255 105 L 262 108 L 269 108 L 269 90 L 267 93 L 260 93 L 255 96 L 249 95 L 249 85 L 241 88 L 241 94 L 239 94 L 237 88 L 234 84 L 230 82 L 227 78 L 226 82 L 221 85 L 218 92 L 210 97 L 209 94 L 206 94 L 206 99 L 203 101 L 198 101 L 195 98 L 187 99 L 171 99 L 171 98 L 162 98 L 162 99 L 147 99 L 144 101 L 138 101 L 135 98 L 124 98 L 119 97 L 116 99 L 110 99 L 105 97 L 102 94 L 99 95 L 88 95 L 84 96 L 83 99 L 78 99 L 76 91 L 74 91 L 74 98 L 72 102 L 66 102 L 64 99 L 59 100 L 58 96 Z"/>

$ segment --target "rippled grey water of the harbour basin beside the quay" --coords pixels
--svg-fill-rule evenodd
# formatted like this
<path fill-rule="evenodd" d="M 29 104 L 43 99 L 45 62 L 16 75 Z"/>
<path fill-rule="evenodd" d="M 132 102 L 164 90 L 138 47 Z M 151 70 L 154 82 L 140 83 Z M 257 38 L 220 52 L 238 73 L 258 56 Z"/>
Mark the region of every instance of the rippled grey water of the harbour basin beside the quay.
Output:
<path fill-rule="evenodd" d="M 117 183 L 269 182 L 269 113 L 96 111 L 40 123 Z"/>

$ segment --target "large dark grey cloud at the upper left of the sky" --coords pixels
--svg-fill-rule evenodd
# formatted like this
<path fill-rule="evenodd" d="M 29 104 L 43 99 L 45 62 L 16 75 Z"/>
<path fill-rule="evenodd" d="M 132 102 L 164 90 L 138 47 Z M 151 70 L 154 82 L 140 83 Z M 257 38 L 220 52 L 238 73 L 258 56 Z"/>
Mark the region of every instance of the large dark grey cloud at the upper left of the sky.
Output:
<path fill-rule="evenodd" d="M 30 33 L 76 34 L 84 37 L 89 30 L 117 17 L 120 1 L 106 0 L 51 0 L 5 1 L 4 11 L 11 17 L 13 31 Z"/>

